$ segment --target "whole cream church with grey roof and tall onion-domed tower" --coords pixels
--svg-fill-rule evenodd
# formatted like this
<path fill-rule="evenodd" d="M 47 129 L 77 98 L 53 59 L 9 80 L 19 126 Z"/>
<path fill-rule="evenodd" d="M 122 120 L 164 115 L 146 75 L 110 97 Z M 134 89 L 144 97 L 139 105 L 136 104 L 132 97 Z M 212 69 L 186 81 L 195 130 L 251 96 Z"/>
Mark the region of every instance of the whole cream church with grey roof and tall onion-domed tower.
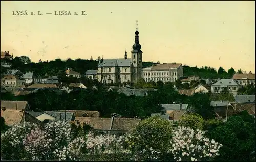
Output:
<path fill-rule="evenodd" d="M 97 69 L 98 82 L 102 83 L 137 83 L 142 79 L 142 51 L 139 43 L 138 21 L 136 23 L 135 43 L 131 51 L 131 58 L 102 59 Z"/>

